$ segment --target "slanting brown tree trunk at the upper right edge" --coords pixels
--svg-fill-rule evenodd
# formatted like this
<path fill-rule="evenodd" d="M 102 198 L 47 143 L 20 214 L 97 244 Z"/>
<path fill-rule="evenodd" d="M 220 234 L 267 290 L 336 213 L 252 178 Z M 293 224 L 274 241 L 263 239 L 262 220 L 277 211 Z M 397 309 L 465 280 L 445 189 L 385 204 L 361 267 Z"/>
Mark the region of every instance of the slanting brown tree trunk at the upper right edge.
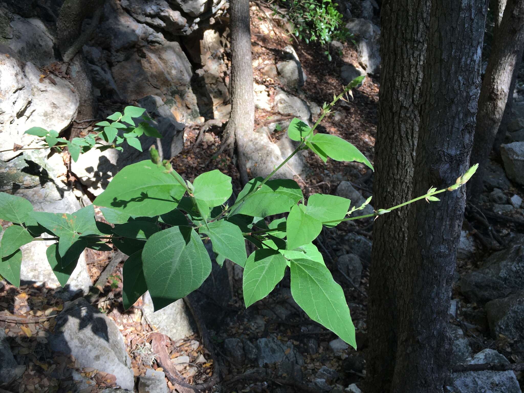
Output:
<path fill-rule="evenodd" d="M 508 0 L 500 26 L 495 30 L 494 45 L 488 60 L 478 100 L 472 163 L 478 171 L 468 183 L 468 198 L 477 199 L 483 191 L 484 169 L 489 152 L 504 116 L 512 75 L 524 45 L 524 0 Z"/>

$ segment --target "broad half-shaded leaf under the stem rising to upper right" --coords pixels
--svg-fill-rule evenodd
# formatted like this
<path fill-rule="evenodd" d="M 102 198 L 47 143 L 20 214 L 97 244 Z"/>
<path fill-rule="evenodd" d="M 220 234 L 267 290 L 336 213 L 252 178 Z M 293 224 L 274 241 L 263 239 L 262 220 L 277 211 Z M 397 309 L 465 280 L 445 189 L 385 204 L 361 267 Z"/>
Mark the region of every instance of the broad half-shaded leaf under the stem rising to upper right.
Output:
<path fill-rule="evenodd" d="M 252 190 L 256 190 L 262 178 L 250 180 L 238 194 L 237 200 Z M 289 212 L 291 206 L 303 198 L 302 190 L 296 181 L 290 179 L 269 180 L 258 191 L 247 198 L 230 213 L 256 217 Z"/>

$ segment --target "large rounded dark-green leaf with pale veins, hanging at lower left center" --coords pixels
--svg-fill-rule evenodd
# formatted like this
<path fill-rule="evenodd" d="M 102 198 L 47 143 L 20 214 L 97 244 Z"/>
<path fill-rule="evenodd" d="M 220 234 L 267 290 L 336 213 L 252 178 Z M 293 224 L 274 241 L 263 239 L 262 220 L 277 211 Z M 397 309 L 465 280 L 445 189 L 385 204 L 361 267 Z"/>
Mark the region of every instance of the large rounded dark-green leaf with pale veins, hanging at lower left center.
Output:
<path fill-rule="evenodd" d="M 199 288 L 211 272 L 208 251 L 189 226 L 173 226 L 152 235 L 142 262 L 155 310 Z"/>

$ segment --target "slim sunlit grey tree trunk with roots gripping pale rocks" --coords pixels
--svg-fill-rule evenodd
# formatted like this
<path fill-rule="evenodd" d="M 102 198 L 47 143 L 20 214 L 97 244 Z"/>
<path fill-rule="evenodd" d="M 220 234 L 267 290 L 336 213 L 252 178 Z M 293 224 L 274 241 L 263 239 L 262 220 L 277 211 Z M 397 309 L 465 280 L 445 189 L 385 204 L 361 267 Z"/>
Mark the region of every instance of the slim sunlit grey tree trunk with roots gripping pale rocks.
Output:
<path fill-rule="evenodd" d="M 241 181 L 247 183 L 246 159 L 243 151 L 249 143 L 249 134 L 255 125 L 253 98 L 253 66 L 251 34 L 249 29 L 249 1 L 231 0 L 231 115 L 225 128 L 222 143 L 232 146 L 236 141 L 238 169 Z"/>

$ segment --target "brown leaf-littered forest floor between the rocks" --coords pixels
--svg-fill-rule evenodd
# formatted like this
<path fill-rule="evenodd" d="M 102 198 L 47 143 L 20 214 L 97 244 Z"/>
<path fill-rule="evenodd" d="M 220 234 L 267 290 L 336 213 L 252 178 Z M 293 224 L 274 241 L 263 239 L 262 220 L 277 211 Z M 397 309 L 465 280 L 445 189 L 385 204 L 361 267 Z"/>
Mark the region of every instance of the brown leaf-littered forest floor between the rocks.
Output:
<path fill-rule="evenodd" d="M 265 61 L 276 63 L 276 57 L 282 48 L 289 45 L 288 38 L 281 31 L 277 35 L 265 34 L 261 30 L 259 19 L 252 18 L 252 48 L 253 60 L 258 64 Z M 318 46 L 306 45 L 303 42 L 293 42 L 301 60 L 302 68 L 307 74 L 307 82 L 303 86 L 303 93 L 309 101 L 322 105 L 330 102 L 333 94 L 340 93 L 343 83 L 340 78 L 340 67 L 345 63 L 357 63 L 357 57 L 352 44 L 345 44 L 342 56 L 335 55 L 330 62 L 326 59 L 323 49 Z M 278 49 L 278 50 L 276 50 Z M 254 78 L 258 84 L 267 86 L 270 102 L 274 99 L 275 89 L 279 88 L 277 80 L 271 80 L 254 67 Z M 373 146 L 376 136 L 377 110 L 378 110 L 378 78 L 368 77 L 364 84 L 353 90 L 353 100 L 348 103 L 340 102 L 336 106 L 337 114 L 326 118 L 319 129 L 322 132 L 338 135 L 358 147 L 366 157 L 373 162 Z M 271 125 L 272 119 L 281 117 L 271 111 L 256 111 L 256 127 Z M 316 118 L 313 118 L 315 120 Z M 268 123 L 269 122 L 269 123 Z M 227 155 L 212 159 L 220 148 L 222 128 L 211 128 L 196 144 L 199 136 L 198 127 L 188 127 L 185 130 L 185 144 L 183 151 L 174 157 L 174 168 L 189 180 L 192 180 L 204 170 L 220 169 L 231 176 L 236 182 L 236 189 L 241 185 L 238 172 L 233 160 Z M 271 138 L 281 138 L 286 130 L 275 130 Z M 312 193 L 335 193 L 337 185 L 342 181 L 351 181 L 364 197 L 371 195 L 373 176 L 372 173 L 359 163 L 344 163 L 328 160 L 323 163 L 314 155 L 305 155 L 306 170 L 304 176 L 296 176 L 304 196 Z M 508 190 L 524 196 L 521 189 Z M 373 202 L 372 202 L 373 204 Z M 519 220 L 521 217 L 519 217 Z M 510 221 L 493 221 L 494 231 L 499 234 L 521 232 L 522 226 Z M 350 233 L 358 233 L 371 241 L 373 222 L 363 221 L 358 224 L 341 223 L 336 228 L 324 229 L 316 244 L 321 250 L 326 266 L 332 272 L 337 271 L 337 257 L 341 253 L 352 252 L 344 238 Z M 473 225 L 476 225 L 473 222 Z M 474 230 L 474 228 L 473 228 Z M 482 230 L 481 230 L 482 232 Z M 490 250 L 481 249 L 472 257 L 460 260 L 457 272 L 465 272 L 478 266 L 479 261 L 485 258 Z M 92 282 L 95 283 L 110 260 L 102 253 L 92 252 L 88 257 L 88 267 Z M 119 263 L 105 285 L 100 288 L 100 297 L 95 301 L 96 308 L 113 319 L 118 329 L 124 335 L 127 352 L 133 360 L 135 376 L 145 373 L 147 367 L 159 368 L 156 363 L 148 364 L 144 353 L 137 351 L 145 343 L 150 342 L 151 332 L 155 331 L 141 316 L 141 300 L 130 311 L 122 309 L 122 268 Z M 234 268 L 233 272 L 238 273 Z M 203 339 L 199 335 L 186 337 L 177 342 L 168 342 L 168 354 L 171 359 L 188 356 L 189 362 L 176 366 L 177 371 L 190 384 L 202 384 L 211 378 L 214 362 L 219 363 L 223 379 L 220 383 L 223 392 L 273 392 L 276 389 L 287 392 L 319 391 L 312 388 L 315 374 L 323 366 L 336 370 L 338 377 L 336 383 L 345 388 L 350 384 L 361 386 L 365 377 L 365 358 L 367 350 L 366 307 L 367 288 L 369 276 L 369 263 L 363 261 L 362 279 L 357 285 L 348 282 L 344 277 L 334 274 L 344 288 L 346 300 L 350 305 L 352 318 L 357 331 L 358 350 L 343 349 L 333 353 L 330 351 L 329 342 L 337 337 L 322 326 L 313 323 L 305 314 L 289 307 L 289 275 L 266 299 L 257 302 L 249 309 L 245 309 L 242 297 L 242 278 L 233 274 L 233 296 L 226 307 L 222 307 L 222 318 L 213 328 L 210 328 L 210 338 L 214 347 L 216 358 L 211 356 L 209 349 L 203 346 Z M 1 286 L 2 284 L 0 284 Z M 52 331 L 53 315 L 58 314 L 63 308 L 63 300 L 55 296 L 55 290 L 42 287 L 22 286 L 15 288 L 4 281 L 0 307 L 8 309 L 10 314 L 16 315 L 17 322 L 0 314 L 0 325 L 10 337 L 10 344 L 15 356 L 24 356 L 27 370 L 24 376 L 17 380 L 16 386 L 10 389 L 13 393 L 50 391 L 69 392 L 76 391 L 73 377 L 64 377 L 64 369 L 77 369 L 81 376 L 92 381 L 90 387 L 81 390 L 82 393 L 96 392 L 107 386 L 114 386 L 115 381 L 111 375 L 100 373 L 96 369 L 78 369 L 75 359 L 54 355 L 46 346 L 49 332 Z M 462 297 L 457 288 L 453 291 L 453 298 L 459 301 L 459 307 L 466 306 L 467 301 Z M 471 304 L 470 304 L 471 306 Z M 473 304 L 473 308 L 476 305 Z M 276 310 L 281 310 L 281 313 Z M 283 310 L 283 311 L 282 311 Z M 464 320 L 460 311 L 457 318 L 451 318 L 452 323 L 459 325 L 470 340 L 473 353 L 483 348 L 495 348 L 512 362 L 522 362 L 522 353 L 512 350 L 511 343 L 504 337 L 495 341 L 490 338 L 486 326 L 479 325 L 472 320 Z M 459 321 L 459 319 L 461 321 Z M 28 323 L 30 322 L 30 323 Z M 466 325 L 464 325 L 464 322 Z M 288 348 L 294 348 L 303 356 L 304 365 L 301 367 L 303 377 L 301 382 L 289 382 L 287 375 L 280 373 L 276 367 L 257 367 L 256 365 L 237 364 L 234 359 L 224 354 L 223 342 L 232 337 L 246 338 L 253 341 L 263 337 L 274 337 L 283 345 L 291 343 Z M 18 357 L 19 358 L 19 357 Z M 250 370 L 250 371 L 248 371 Z M 248 372 L 248 373 L 246 373 Z M 519 375 L 521 385 L 524 379 Z M 168 387 L 173 385 L 167 381 Z M 88 384 L 90 385 L 90 384 Z M 335 387 L 335 385 L 333 385 Z M 211 391 L 211 390 L 210 390 Z"/>

